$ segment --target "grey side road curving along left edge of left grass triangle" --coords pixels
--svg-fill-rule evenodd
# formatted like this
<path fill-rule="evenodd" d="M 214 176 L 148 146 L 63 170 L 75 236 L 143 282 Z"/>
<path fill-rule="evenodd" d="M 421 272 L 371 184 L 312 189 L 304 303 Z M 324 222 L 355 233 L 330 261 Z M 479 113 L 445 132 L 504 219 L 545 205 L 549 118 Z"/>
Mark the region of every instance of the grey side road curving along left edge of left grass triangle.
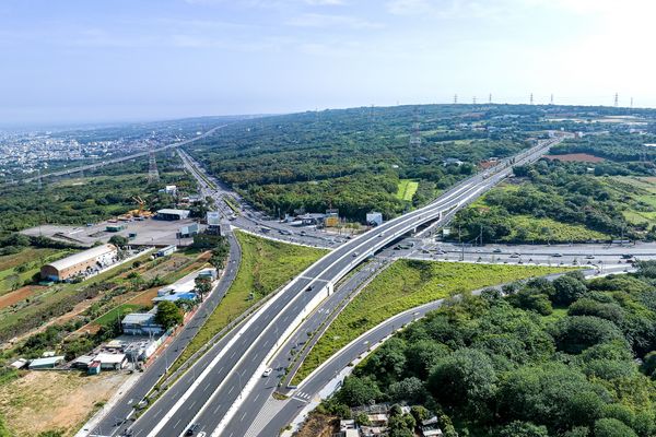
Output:
<path fill-rule="evenodd" d="M 105 414 L 104 420 L 101 421 L 94 429 L 90 430 L 91 435 L 114 436 L 125 433 L 131 424 L 129 417 L 133 414 L 132 406 L 144 399 L 157 381 L 160 381 L 167 370 L 167 367 L 175 362 L 183 353 L 184 349 L 189 344 L 194 335 L 196 335 L 208 315 L 212 314 L 216 305 L 219 305 L 235 279 L 237 267 L 242 259 L 242 250 L 232 234 L 229 235 L 229 241 L 230 256 L 227 267 L 212 293 L 200 306 L 194 317 L 173 339 L 172 343 L 166 346 L 162 356 L 149 365 L 137 383 L 121 397 L 120 402 Z"/>

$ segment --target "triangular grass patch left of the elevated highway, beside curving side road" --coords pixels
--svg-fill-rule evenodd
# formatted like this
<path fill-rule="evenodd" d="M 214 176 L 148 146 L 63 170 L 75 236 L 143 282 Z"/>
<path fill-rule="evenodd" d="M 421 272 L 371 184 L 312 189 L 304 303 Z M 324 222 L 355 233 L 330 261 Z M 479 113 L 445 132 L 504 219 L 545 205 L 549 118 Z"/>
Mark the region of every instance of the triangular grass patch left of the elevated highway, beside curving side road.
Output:
<path fill-rule="evenodd" d="M 235 235 L 242 247 L 242 263 L 237 276 L 214 312 L 174 363 L 174 369 L 232 320 L 326 253 L 326 250 L 288 245 L 242 232 L 236 232 Z"/>

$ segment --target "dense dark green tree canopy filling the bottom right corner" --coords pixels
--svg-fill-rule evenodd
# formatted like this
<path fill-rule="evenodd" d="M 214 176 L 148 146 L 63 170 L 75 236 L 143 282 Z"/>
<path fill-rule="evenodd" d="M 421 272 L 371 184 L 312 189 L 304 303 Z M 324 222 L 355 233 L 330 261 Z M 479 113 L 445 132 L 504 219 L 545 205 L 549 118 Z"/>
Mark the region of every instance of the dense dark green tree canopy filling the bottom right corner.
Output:
<path fill-rule="evenodd" d="M 449 300 L 376 350 L 319 411 L 421 405 L 413 415 L 436 414 L 447 437 L 653 436 L 655 284 L 656 263 L 644 262 L 635 274 L 567 273 Z M 390 437 L 412 435 L 413 417 L 397 422 Z"/>

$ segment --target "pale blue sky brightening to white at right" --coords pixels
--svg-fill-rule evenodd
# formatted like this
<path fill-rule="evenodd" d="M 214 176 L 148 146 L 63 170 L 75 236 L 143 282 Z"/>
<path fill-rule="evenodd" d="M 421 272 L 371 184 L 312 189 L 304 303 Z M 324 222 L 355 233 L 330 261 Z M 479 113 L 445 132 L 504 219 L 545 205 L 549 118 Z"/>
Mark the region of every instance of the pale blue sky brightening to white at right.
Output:
<path fill-rule="evenodd" d="M 656 106 L 649 0 L 2 0 L 0 123 Z"/>

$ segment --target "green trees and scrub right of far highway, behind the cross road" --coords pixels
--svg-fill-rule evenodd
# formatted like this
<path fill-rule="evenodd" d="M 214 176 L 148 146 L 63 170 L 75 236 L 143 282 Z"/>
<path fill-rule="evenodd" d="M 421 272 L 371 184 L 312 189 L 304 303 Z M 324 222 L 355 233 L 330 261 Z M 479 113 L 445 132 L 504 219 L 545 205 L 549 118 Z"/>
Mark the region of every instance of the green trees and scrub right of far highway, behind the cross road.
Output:
<path fill-rule="evenodd" d="M 513 180 L 491 190 L 482 201 L 456 215 L 453 227 L 460 229 L 460 237 L 472 240 L 479 236 L 482 226 L 484 241 L 558 243 L 589 239 L 584 232 L 579 232 L 578 237 L 561 237 L 548 224 L 542 226 L 542 218 L 581 225 L 600 233 L 598 238 L 601 239 L 656 237 L 649 220 L 651 214 L 656 212 L 652 199 L 654 192 L 648 186 L 648 177 L 656 174 L 656 166 L 649 160 L 632 161 L 640 154 L 631 152 L 633 149 L 649 151 L 651 147 L 642 143 L 639 145 L 632 137 L 604 135 L 593 140 L 584 138 L 569 141 L 554 149 L 553 152 L 559 154 L 594 153 L 607 156 L 609 161 L 584 163 L 541 160 L 534 165 L 516 166 Z M 610 156 L 617 161 L 610 161 Z M 644 187 L 639 184 L 641 180 Z M 514 217 L 518 216 L 527 220 L 516 223 Z M 531 226 L 540 229 L 530 232 Z"/>

